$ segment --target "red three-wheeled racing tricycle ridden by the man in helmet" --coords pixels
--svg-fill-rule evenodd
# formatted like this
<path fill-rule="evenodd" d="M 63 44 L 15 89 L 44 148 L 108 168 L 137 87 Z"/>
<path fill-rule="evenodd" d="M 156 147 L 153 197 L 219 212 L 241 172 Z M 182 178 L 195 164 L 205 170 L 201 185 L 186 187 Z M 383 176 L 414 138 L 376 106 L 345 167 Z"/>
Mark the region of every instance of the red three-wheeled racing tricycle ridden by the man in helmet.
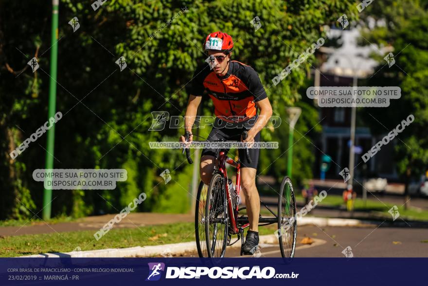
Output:
<path fill-rule="evenodd" d="M 247 132 L 242 134 L 246 138 Z M 190 133 L 185 133 L 186 141 Z M 219 142 L 217 140 L 213 142 Z M 193 163 L 189 148 L 183 149 L 187 160 Z M 245 150 L 250 161 L 248 148 Z M 236 187 L 228 178 L 226 164 L 236 168 Z M 250 226 L 249 219 L 242 214 L 246 207 L 238 208 L 240 192 L 240 168 L 241 164 L 227 155 L 227 152 L 218 149 L 215 152 L 214 172 L 210 184 L 207 186 L 202 181 L 196 195 L 195 211 L 195 235 L 196 247 L 199 257 L 224 257 L 226 247 L 241 240 L 244 243 L 244 229 Z M 232 189 L 232 190 L 231 190 Z M 297 221 L 296 199 L 291 179 L 285 176 L 281 183 L 278 197 L 277 213 L 272 211 L 262 200 L 260 202 L 269 210 L 272 216 L 259 216 L 259 226 L 277 224 L 275 235 L 279 240 L 281 255 L 284 258 L 292 258 L 296 249 Z M 237 239 L 232 242 L 232 236 Z M 241 252 L 242 255 L 242 252 Z"/>

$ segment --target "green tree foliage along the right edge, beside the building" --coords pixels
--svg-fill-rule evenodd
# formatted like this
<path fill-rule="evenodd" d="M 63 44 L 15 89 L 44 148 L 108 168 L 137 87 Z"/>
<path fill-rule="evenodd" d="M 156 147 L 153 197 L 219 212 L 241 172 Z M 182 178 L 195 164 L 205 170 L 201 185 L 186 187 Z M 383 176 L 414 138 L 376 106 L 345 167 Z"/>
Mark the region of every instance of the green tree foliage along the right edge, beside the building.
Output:
<path fill-rule="evenodd" d="M 374 114 L 385 125 L 373 125 L 379 133 L 392 130 L 409 114 L 414 115 L 414 122 L 406 127 L 399 136 L 401 142 L 395 146 L 398 172 L 409 182 L 410 177 L 419 178 L 428 170 L 428 2 L 384 2 L 382 6 L 371 5 L 364 10 L 364 19 L 386 19 L 385 25 L 376 26 L 364 36 L 370 42 L 391 45 L 395 64 L 391 68 L 384 66 L 385 55 L 378 56 L 383 62 L 370 82 L 399 86 L 402 96 L 393 100 L 388 109 L 367 109 L 366 112 Z"/>

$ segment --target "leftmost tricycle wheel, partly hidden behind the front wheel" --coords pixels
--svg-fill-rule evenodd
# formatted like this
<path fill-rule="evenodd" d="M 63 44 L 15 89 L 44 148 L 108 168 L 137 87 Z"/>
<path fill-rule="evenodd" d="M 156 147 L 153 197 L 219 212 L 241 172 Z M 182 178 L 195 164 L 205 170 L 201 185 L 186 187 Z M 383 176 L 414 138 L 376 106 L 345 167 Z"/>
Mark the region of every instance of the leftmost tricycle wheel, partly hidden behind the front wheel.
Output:
<path fill-rule="evenodd" d="M 205 206 L 207 204 L 208 186 L 202 181 L 199 183 L 196 195 L 195 236 L 196 248 L 199 257 L 208 257 L 207 240 L 205 239 Z"/>

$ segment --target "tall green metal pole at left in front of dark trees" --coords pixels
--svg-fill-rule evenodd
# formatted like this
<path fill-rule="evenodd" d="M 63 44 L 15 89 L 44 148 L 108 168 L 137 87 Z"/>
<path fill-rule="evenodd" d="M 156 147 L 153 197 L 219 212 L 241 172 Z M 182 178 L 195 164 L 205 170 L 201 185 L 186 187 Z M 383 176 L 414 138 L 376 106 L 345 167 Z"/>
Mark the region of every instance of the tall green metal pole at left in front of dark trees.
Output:
<path fill-rule="evenodd" d="M 52 0 L 52 29 L 51 29 L 51 81 L 49 84 L 49 107 L 48 118 L 55 115 L 56 103 L 56 66 L 58 58 L 58 10 L 59 0 Z M 47 132 L 46 146 L 46 169 L 54 169 L 54 142 L 55 142 L 55 125 Z M 52 178 L 45 178 L 52 181 Z M 51 218 L 51 201 L 52 190 L 45 189 L 43 192 L 43 219 Z"/>

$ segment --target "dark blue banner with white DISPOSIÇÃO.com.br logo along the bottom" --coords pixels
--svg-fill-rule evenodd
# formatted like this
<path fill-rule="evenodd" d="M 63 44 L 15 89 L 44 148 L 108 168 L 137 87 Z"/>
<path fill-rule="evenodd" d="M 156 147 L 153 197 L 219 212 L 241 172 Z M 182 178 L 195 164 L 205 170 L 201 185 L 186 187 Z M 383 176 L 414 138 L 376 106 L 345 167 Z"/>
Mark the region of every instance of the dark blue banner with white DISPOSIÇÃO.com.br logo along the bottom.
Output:
<path fill-rule="evenodd" d="M 342 249 L 338 249 L 339 255 Z M 0 285 L 420 285 L 428 258 L 0 258 Z M 83 252 L 83 251 L 82 251 Z M 421 254 L 423 254 L 421 252 Z M 364 274 L 361 274 L 364 269 Z M 406 273 L 392 275 L 391 273 Z M 353 277 L 349 280 L 349 277 Z M 284 280 L 286 279 L 286 280 Z M 416 283 L 418 282 L 418 283 Z M 284 284 L 284 285 L 285 285 Z"/>

